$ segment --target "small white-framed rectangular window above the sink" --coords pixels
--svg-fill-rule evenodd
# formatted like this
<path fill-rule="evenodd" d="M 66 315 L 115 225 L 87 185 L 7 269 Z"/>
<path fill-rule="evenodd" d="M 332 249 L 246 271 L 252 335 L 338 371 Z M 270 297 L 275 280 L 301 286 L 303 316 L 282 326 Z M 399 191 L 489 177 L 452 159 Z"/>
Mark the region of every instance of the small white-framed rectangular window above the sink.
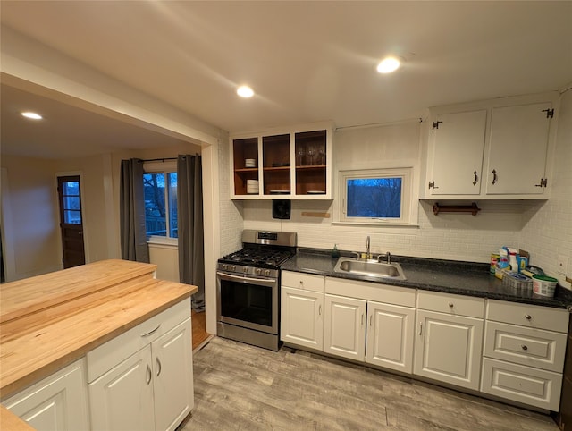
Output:
<path fill-rule="evenodd" d="M 411 224 L 412 168 L 340 171 L 338 219 L 352 224 Z"/>

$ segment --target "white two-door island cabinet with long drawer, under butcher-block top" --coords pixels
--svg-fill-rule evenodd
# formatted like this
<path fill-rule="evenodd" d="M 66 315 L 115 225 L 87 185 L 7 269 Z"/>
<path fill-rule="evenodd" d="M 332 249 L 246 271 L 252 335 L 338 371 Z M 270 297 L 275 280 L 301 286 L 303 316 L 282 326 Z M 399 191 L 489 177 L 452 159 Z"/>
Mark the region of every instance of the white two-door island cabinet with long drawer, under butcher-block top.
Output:
<path fill-rule="evenodd" d="M 183 301 L 88 353 L 94 431 L 173 430 L 189 414 L 194 402 L 189 315 L 190 304 Z"/>

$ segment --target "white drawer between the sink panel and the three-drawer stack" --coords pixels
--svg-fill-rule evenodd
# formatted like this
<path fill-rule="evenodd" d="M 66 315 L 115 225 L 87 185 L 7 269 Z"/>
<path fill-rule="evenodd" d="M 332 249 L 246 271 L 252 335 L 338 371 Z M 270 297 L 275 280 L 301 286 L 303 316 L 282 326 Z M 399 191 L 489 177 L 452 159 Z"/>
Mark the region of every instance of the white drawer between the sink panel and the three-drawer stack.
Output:
<path fill-rule="evenodd" d="M 419 291 L 417 308 L 439 311 L 451 316 L 484 316 L 484 299 L 442 292 Z"/>

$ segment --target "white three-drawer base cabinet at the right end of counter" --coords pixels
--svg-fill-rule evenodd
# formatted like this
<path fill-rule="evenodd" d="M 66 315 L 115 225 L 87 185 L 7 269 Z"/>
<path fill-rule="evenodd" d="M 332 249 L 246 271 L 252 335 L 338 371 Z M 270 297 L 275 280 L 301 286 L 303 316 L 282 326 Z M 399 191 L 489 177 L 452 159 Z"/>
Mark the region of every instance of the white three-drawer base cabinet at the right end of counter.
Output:
<path fill-rule="evenodd" d="M 559 410 L 568 311 L 489 300 L 481 392 Z"/>

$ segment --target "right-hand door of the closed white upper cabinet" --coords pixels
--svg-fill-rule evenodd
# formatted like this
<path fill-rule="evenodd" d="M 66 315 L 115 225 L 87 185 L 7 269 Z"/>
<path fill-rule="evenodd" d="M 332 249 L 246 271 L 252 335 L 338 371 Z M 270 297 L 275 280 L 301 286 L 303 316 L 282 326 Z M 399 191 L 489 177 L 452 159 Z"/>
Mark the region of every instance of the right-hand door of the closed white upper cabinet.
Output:
<path fill-rule="evenodd" d="M 492 109 L 487 194 L 542 194 L 551 103 Z"/>

